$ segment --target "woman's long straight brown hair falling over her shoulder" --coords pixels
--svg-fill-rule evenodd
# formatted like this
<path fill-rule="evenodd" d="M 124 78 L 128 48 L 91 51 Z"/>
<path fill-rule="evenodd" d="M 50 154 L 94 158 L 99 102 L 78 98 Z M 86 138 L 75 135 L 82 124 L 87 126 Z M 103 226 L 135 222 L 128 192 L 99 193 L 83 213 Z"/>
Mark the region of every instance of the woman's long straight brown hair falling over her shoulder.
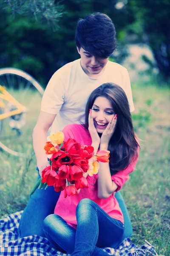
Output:
<path fill-rule="evenodd" d="M 108 99 L 117 114 L 116 129 L 108 145 L 110 151 L 109 166 L 111 175 L 113 175 L 125 170 L 130 163 L 136 160 L 139 144 L 136 141 L 127 96 L 117 84 L 102 84 L 91 93 L 85 108 L 84 127 L 86 130 L 88 130 L 89 109 L 92 108 L 97 97 Z"/>

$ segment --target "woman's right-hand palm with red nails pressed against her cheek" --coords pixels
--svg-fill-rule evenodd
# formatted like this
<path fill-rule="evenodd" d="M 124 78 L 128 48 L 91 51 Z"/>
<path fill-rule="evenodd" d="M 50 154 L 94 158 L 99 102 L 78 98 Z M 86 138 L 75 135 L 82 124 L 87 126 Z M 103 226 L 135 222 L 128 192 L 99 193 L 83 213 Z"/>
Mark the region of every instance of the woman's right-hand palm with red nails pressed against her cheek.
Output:
<path fill-rule="evenodd" d="M 109 140 L 111 139 L 116 128 L 116 121 L 117 121 L 117 115 L 113 117 L 112 121 L 105 128 L 105 131 L 103 131 L 102 137 L 100 139 L 100 148 L 102 147 L 105 150 L 108 149 Z"/>

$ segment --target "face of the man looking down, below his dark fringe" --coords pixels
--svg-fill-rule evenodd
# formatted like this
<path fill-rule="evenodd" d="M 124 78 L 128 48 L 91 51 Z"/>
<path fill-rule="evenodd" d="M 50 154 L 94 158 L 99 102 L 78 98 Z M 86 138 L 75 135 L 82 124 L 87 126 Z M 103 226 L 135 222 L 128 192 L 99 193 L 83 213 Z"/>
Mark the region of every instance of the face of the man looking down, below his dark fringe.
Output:
<path fill-rule="evenodd" d="M 95 57 L 89 52 L 86 52 L 82 47 L 80 49 L 77 47 L 77 51 L 81 56 L 81 66 L 86 75 L 97 77 L 97 75 L 102 74 L 108 62 L 108 58 Z"/>

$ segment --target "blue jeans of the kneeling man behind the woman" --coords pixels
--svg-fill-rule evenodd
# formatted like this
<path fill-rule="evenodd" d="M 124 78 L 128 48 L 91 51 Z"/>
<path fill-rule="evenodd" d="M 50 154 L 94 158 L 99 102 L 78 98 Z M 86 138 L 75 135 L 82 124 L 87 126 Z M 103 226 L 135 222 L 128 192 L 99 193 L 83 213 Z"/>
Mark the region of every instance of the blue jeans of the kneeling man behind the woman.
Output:
<path fill-rule="evenodd" d="M 38 179 L 40 175 L 38 175 Z M 18 234 L 20 237 L 39 235 L 45 236 L 42 230 L 44 219 L 54 213 L 54 208 L 59 198 L 60 192 L 55 192 L 54 187 L 48 189 L 36 189 L 28 201 L 26 208 L 20 219 Z M 127 211 L 127 207 L 120 192 L 115 195 L 124 217 L 125 230 L 123 239 L 132 235 L 132 225 Z"/>

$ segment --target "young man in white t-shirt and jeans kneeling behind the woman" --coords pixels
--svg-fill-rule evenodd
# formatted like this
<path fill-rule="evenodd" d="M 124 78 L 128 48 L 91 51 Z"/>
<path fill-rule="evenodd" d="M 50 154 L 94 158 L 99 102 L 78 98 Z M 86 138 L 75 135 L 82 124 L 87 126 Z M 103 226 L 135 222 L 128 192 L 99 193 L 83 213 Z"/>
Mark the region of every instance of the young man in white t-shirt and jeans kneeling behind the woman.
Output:
<path fill-rule="evenodd" d="M 130 109 L 134 110 L 130 79 L 127 70 L 119 64 L 108 61 L 116 48 L 116 32 L 112 20 L 103 13 L 88 15 L 80 19 L 76 29 L 76 45 L 80 59 L 66 64 L 51 77 L 42 98 L 40 116 L 33 132 L 33 145 L 40 175 L 48 166 L 44 145 L 47 132 L 51 134 L 71 123 L 84 121 L 85 104 L 90 93 L 101 84 L 119 84 L 127 95 Z M 52 126 L 51 126 L 52 125 Z M 132 234 L 127 208 L 120 192 L 116 199 L 125 219 L 124 237 Z M 20 221 L 20 236 L 44 236 L 42 221 L 54 213 L 59 193 L 54 187 L 37 189 L 31 196 Z"/>

